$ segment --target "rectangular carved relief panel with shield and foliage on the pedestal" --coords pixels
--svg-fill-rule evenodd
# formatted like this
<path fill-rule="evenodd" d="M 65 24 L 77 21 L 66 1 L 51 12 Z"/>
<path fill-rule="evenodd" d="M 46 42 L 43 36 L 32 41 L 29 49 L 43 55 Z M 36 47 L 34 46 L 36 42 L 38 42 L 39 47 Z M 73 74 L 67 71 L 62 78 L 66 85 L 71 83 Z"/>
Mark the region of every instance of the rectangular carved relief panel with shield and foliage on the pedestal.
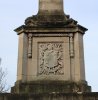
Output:
<path fill-rule="evenodd" d="M 64 74 L 63 42 L 38 43 L 38 74 Z"/>

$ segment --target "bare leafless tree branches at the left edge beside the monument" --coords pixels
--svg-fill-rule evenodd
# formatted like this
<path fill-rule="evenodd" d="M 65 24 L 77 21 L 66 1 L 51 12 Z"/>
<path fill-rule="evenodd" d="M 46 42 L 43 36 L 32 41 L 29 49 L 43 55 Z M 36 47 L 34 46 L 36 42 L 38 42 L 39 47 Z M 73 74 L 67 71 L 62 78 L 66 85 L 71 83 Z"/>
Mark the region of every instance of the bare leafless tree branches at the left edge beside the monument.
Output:
<path fill-rule="evenodd" d="M 1 58 L 0 58 L 0 65 L 1 65 Z M 6 87 L 6 75 L 7 72 L 2 69 L 0 66 L 0 93 L 4 93 L 8 91 L 8 88 Z"/>

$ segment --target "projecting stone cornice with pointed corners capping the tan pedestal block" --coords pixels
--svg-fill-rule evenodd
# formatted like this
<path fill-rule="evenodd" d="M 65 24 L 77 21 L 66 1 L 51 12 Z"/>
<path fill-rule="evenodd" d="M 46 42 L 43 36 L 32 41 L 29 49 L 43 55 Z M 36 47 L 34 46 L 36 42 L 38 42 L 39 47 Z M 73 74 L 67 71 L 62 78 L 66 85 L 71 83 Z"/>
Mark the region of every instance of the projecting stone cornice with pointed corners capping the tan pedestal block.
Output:
<path fill-rule="evenodd" d="M 76 33 L 79 32 L 81 34 L 84 34 L 85 31 L 87 31 L 86 28 L 84 28 L 81 25 L 77 25 L 76 27 L 62 27 L 62 28 L 52 28 L 52 27 L 48 27 L 48 28 L 43 28 L 43 27 L 32 27 L 32 26 L 26 26 L 26 25 L 22 25 L 20 27 L 18 27 L 17 29 L 15 29 L 15 32 L 17 32 L 17 34 L 21 34 L 21 33 L 36 33 L 36 34 L 40 34 L 40 33 L 45 33 L 45 34 L 63 34 L 63 33 Z"/>

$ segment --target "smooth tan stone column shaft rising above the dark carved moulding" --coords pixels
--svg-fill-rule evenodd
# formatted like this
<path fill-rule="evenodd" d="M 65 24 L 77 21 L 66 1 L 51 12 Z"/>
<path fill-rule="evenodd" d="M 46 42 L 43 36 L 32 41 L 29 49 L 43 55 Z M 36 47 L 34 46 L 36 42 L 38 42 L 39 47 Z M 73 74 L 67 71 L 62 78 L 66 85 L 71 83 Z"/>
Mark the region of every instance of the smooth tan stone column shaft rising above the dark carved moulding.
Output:
<path fill-rule="evenodd" d="M 39 0 L 40 14 L 64 14 L 63 0 Z"/>

